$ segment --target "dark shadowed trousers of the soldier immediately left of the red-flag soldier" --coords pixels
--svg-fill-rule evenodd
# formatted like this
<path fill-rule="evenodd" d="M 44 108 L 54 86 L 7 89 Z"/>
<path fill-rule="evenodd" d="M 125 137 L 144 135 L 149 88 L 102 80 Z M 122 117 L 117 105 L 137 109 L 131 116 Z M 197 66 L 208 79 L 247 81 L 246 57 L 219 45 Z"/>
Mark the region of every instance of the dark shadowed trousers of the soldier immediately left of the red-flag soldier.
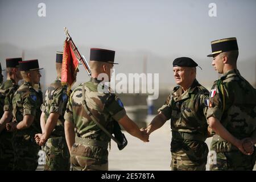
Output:
<path fill-rule="evenodd" d="M 34 136 L 23 135 L 13 138 L 14 170 L 33 171 L 38 167 L 39 146 Z"/>

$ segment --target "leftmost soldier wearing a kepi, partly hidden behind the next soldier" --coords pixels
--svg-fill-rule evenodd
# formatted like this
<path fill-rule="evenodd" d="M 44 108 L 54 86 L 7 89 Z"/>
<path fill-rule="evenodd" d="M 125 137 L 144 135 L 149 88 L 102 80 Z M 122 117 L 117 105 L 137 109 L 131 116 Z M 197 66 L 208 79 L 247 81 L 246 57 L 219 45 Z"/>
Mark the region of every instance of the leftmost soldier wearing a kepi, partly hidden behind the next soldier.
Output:
<path fill-rule="evenodd" d="M 0 169 L 13 169 L 14 152 L 12 146 L 13 133 L 6 131 L 6 123 L 11 122 L 13 118 L 12 100 L 14 93 L 18 89 L 18 82 L 22 80 L 19 70 L 19 61 L 21 57 L 6 59 L 7 80 L 5 82 L 5 105 L 3 107 L 3 116 L 0 120 Z"/>

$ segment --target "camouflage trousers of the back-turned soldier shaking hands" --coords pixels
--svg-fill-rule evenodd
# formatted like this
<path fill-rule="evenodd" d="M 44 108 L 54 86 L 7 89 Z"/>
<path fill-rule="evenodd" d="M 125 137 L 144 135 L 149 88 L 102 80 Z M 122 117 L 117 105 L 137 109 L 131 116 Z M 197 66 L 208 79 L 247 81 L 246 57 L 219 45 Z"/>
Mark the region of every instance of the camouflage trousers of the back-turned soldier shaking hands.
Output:
<path fill-rule="evenodd" d="M 107 171 L 108 148 L 75 143 L 71 150 L 73 171 Z"/>

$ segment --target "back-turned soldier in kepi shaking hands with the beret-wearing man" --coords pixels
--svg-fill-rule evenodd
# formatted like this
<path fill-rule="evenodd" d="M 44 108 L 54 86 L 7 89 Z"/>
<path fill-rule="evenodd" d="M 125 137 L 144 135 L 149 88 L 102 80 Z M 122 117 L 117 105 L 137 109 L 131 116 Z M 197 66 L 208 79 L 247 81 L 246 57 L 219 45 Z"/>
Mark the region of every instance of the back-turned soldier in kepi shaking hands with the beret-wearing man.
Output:
<path fill-rule="evenodd" d="M 68 101 L 64 126 L 73 170 L 108 170 L 110 137 L 101 126 L 111 134 L 114 122 L 118 122 L 134 137 L 148 141 L 148 135 L 127 117 L 121 100 L 115 94 L 102 92 L 108 88 L 99 77 L 104 75 L 104 81 L 110 81 L 116 64 L 114 55 L 115 51 L 90 49 L 92 78 L 79 85 Z"/>

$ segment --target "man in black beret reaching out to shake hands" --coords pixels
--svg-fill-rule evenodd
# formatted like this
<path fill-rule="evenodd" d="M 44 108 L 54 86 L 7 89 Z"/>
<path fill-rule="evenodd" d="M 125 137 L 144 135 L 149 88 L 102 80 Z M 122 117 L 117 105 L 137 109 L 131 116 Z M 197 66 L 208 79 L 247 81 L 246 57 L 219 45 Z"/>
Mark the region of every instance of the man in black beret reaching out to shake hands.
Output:
<path fill-rule="evenodd" d="M 205 170 L 208 146 L 207 100 L 209 92 L 196 80 L 197 63 L 189 57 L 173 62 L 176 86 L 169 94 L 159 114 L 147 127 L 151 134 L 171 119 L 171 169 Z"/>

